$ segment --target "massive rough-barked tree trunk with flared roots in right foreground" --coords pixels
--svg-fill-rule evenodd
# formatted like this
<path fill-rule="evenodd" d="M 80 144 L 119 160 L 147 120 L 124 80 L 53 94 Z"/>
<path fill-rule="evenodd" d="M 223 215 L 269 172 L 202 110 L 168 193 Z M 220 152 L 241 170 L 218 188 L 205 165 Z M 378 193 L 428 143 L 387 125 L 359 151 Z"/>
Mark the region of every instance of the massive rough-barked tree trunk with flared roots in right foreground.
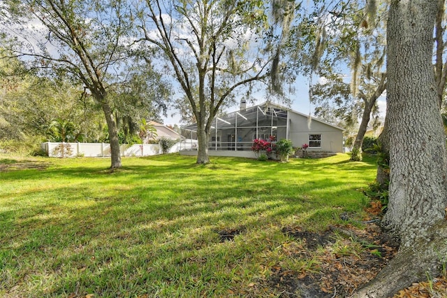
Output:
<path fill-rule="evenodd" d="M 393 0 L 387 28 L 390 197 L 395 259 L 354 297 L 391 297 L 447 262 L 446 148 L 432 65 L 438 0 Z"/>

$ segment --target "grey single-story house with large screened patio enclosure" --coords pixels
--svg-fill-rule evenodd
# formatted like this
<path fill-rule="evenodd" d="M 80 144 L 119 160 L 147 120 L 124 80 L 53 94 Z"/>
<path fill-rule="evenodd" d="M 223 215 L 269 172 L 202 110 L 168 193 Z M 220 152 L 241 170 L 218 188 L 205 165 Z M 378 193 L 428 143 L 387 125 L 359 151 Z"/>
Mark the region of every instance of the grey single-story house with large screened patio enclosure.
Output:
<path fill-rule="evenodd" d="M 240 111 L 216 117 L 213 122 L 210 155 L 253 157 L 249 153 L 254 139 L 268 140 L 270 136 L 277 141 L 289 139 L 295 147 L 307 143 L 308 152 L 343 152 L 344 129 L 268 101 L 249 108 L 241 101 Z M 182 129 L 196 132 L 197 124 Z"/>

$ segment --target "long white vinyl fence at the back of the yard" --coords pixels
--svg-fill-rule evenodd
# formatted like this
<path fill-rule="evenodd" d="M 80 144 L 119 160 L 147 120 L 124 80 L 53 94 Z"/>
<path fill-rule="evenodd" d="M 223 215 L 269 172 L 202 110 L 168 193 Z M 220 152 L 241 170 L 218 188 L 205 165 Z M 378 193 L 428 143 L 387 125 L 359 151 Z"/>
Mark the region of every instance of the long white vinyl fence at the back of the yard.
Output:
<path fill-rule="evenodd" d="M 109 143 L 42 143 L 41 148 L 49 157 L 109 157 Z M 170 148 L 169 152 L 193 150 L 197 148 L 197 140 L 182 140 Z M 149 156 L 161 154 L 159 144 L 121 145 L 119 151 L 122 156 Z"/>

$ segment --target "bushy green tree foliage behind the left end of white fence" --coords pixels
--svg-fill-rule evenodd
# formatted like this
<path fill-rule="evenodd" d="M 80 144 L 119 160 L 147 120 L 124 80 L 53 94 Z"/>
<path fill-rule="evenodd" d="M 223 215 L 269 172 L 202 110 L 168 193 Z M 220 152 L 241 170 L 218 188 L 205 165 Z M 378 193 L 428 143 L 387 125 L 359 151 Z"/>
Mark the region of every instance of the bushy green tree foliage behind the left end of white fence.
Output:
<path fill-rule="evenodd" d="M 0 114 L 18 133 L 45 139 L 54 120 L 72 122 L 78 141 L 82 141 L 83 136 L 88 138 L 94 130 L 93 122 L 101 116 L 101 111 L 91 99 L 81 100 L 81 95 L 79 86 L 28 75 L 22 80 L 20 89 L 6 94 L 7 104 L 0 108 Z"/>

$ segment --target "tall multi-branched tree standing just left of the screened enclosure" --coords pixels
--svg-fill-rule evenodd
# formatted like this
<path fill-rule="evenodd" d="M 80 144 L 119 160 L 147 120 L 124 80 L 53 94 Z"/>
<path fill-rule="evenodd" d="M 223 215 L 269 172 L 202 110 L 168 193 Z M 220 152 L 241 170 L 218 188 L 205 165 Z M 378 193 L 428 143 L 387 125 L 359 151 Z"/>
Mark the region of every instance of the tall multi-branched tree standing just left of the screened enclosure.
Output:
<path fill-rule="evenodd" d="M 234 101 L 237 90 L 270 74 L 279 37 L 271 28 L 270 36 L 263 35 L 269 29 L 263 4 L 145 0 L 139 8 L 142 41 L 166 59 L 197 121 L 198 164 L 210 162 L 210 129 L 219 109 Z"/>

